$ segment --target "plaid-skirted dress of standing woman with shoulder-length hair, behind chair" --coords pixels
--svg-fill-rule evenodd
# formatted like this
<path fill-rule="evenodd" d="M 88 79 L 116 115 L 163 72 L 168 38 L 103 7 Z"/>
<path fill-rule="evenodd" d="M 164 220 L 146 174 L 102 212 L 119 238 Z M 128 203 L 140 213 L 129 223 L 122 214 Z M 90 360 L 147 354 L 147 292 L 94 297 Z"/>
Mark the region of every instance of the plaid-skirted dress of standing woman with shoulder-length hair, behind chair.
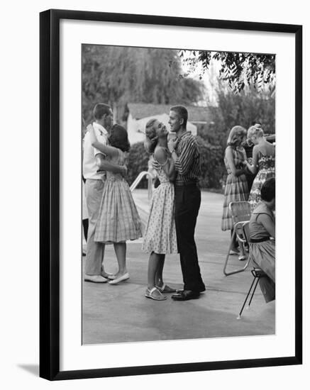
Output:
<path fill-rule="evenodd" d="M 234 149 L 233 150 L 233 162 L 235 163 L 236 169 L 243 168 L 244 157 L 241 152 Z M 233 228 L 233 221 L 231 219 L 231 213 L 229 211 L 229 204 L 236 201 L 248 201 L 248 182 L 245 177 L 245 174 L 240 174 L 240 176 L 235 176 L 231 173 L 231 168 L 229 167 L 226 157 L 224 157 L 225 166 L 228 172 L 228 177 L 226 179 L 226 186 L 224 191 L 224 204 L 223 204 L 223 216 L 222 216 L 222 230 L 231 230 Z"/>

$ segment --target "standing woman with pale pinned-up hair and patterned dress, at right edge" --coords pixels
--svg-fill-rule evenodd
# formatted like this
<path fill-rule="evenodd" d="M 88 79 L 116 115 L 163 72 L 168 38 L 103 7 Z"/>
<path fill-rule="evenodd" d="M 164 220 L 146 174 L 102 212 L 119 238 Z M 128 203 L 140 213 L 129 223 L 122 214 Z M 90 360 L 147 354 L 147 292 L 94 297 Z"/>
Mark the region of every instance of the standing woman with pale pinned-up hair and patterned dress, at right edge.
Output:
<path fill-rule="evenodd" d="M 250 169 L 250 172 L 256 175 L 248 201 L 253 211 L 260 202 L 260 189 L 267 179 L 275 177 L 275 146 L 267 142 L 264 137 L 264 131 L 260 125 L 251 126 L 248 129 L 248 140 L 255 146 L 253 147 L 253 161 L 250 164 L 245 160 L 244 165 Z"/>

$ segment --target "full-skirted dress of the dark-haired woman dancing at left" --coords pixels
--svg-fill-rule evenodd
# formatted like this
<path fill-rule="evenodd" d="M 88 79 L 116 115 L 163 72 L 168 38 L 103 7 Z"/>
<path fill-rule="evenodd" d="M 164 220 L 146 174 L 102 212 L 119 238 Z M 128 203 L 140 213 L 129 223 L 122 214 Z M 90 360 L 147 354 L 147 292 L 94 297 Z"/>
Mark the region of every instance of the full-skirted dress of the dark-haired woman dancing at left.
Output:
<path fill-rule="evenodd" d="M 118 149 L 118 156 L 110 161 L 123 165 L 125 160 L 126 154 Z M 121 243 L 139 237 L 142 237 L 140 217 L 128 183 L 121 174 L 106 172 L 94 240 L 99 243 Z"/>

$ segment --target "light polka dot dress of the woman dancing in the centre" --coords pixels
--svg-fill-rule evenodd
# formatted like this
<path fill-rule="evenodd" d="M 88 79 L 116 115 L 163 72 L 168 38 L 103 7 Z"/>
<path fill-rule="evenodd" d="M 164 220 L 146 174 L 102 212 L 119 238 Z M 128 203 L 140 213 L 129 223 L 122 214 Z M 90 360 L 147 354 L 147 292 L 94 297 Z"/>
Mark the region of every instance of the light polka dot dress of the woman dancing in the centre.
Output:
<path fill-rule="evenodd" d="M 162 255 L 177 253 L 175 232 L 175 187 L 165 171 L 158 172 L 160 185 L 155 189 L 150 205 L 150 214 L 143 237 L 143 252 Z"/>

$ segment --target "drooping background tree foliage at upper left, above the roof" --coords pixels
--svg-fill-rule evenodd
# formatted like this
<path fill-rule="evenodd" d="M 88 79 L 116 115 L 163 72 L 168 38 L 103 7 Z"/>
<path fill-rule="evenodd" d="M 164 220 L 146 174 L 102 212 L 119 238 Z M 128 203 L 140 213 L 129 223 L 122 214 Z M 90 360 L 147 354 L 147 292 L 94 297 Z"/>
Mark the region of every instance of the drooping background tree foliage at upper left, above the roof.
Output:
<path fill-rule="evenodd" d="M 131 103 L 194 104 L 204 84 L 180 78 L 177 50 L 82 45 L 82 106 L 85 120 L 99 101 L 114 109 Z"/>

